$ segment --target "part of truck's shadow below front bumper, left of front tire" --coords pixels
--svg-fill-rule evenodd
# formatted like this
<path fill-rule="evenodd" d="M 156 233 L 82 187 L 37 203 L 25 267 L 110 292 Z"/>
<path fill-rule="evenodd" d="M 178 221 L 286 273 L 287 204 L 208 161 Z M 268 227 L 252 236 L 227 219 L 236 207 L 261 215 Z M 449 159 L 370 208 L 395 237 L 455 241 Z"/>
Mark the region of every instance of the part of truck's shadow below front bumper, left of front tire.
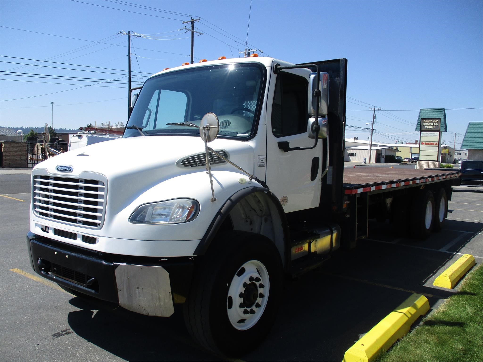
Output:
<path fill-rule="evenodd" d="M 70 304 L 81 309 L 68 315 L 72 331 L 124 360 L 220 361 L 191 340 L 182 310 L 160 318 L 79 297 Z"/>

